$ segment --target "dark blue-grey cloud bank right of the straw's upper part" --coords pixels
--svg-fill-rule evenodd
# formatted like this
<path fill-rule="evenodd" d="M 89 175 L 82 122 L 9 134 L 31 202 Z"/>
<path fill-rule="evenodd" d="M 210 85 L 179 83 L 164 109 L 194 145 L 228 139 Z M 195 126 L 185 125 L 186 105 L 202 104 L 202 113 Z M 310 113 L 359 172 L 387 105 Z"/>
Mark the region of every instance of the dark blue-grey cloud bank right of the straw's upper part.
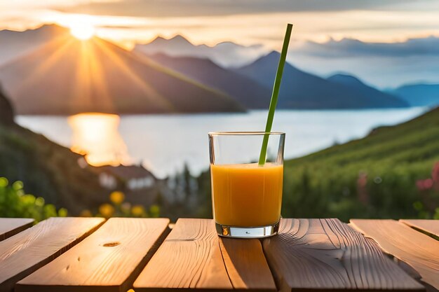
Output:
<path fill-rule="evenodd" d="M 399 43 L 365 43 L 356 39 L 306 42 L 296 53 L 316 57 L 412 57 L 439 56 L 439 37 L 407 39 Z"/>

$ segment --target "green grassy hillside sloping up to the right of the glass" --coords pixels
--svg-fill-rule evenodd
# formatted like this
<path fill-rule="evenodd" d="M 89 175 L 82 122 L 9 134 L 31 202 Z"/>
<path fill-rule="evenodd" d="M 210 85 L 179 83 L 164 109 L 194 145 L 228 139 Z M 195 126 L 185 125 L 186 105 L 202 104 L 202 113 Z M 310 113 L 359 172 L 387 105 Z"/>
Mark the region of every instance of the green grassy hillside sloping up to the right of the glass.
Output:
<path fill-rule="evenodd" d="M 286 161 L 283 216 L 431 217 L 439 207 L 439 190 L 419 190 L 417 181 L 431 178 L 437 162 L 439 108 Z"/>

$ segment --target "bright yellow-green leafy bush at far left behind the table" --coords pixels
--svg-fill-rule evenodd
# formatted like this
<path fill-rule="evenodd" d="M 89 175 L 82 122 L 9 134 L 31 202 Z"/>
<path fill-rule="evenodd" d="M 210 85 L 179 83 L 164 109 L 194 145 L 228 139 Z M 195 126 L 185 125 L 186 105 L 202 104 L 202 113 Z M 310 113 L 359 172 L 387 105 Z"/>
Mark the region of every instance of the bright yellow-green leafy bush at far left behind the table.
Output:
<path fill-rule="evenodd" d="M 64 208 L 56 210 L 53 204 L 46 204 L 43 197 L 25 193 L 23 183 L 0 177 L 0 217 L 34 218 L 36 222 L 54 216 L 67 216 Z"/>

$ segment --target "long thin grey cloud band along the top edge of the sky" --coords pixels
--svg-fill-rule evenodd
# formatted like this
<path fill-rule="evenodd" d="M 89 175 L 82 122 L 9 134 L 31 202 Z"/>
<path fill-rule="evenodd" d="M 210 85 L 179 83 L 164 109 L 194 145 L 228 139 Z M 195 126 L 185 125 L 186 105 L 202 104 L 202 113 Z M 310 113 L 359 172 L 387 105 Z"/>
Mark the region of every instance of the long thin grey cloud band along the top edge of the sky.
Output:
<path fill-rule="evenodd" d="M 353 10 L 418 10 L 438 8 L 437 0 L 120 0 L 90 1 L 72 6 L 59 5 L 69 13 L 129 15 L 142 17 L 185 17 L 254 13 Z"/>

